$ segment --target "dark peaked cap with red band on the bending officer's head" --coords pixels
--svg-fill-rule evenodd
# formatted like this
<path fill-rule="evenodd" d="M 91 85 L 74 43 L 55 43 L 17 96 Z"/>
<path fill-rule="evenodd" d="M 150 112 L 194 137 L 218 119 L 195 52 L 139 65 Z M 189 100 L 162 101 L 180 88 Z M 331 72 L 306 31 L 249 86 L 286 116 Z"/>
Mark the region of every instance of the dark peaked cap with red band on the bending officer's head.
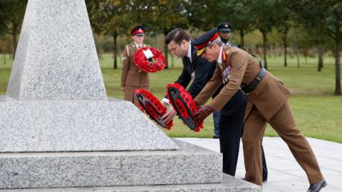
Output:
<path fill-rule="evenodd" d="M 191 41 L 192 46 L 195 46 L 195 48 L 197 49 L 197 56 L 203 53 L 207 44 L 212 43 L 212 41 L 214 41 L 218 37 L 219 36 L 217 35 L 217 28 L 213 28 L 212 30 L 207 31 L 207 33 L 204 33 L 199 38 Z"/>

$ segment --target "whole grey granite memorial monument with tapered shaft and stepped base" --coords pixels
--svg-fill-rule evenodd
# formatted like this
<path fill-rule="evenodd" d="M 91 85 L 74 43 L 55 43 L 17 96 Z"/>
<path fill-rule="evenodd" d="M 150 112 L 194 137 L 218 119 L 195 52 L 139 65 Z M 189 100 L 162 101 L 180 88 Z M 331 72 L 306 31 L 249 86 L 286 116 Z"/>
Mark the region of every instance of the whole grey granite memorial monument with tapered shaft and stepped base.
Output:
<path fill-rule="evenodd" d="M 108 98 L 84 0 L 28 0 L 0 97 L 0 191 L 261 191 Z"/>

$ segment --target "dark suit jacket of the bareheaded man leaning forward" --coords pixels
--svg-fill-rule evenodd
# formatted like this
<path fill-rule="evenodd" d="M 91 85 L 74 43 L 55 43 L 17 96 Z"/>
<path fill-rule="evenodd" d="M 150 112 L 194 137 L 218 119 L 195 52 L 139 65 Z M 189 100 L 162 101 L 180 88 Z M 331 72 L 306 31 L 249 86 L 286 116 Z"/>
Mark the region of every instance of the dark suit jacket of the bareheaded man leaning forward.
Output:
<path fill-rule="evenodd" d="M 195 79 L 187 89 L 192 98 L 195 98 L 204 85 L 212 78 L 216 68 L 216 61 L 209 62 L 201 56 L 197 57 L 197 50 L 194 46 L 191 46 L 191 51 L 192 62 L 190 62 L 187 56 L 182 58 L 183 70 L 175 82 L 186 88 L 191 82 L 191 74 L 195 71 Z"/>

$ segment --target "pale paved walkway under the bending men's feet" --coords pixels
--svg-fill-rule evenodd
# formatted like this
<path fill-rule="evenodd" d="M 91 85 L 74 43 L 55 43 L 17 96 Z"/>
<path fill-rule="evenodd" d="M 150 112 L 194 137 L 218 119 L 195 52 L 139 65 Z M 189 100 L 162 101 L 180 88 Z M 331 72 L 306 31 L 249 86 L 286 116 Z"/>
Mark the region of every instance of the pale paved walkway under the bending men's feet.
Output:
<path fill-rule="evenodd" d="M 177 138 L 184 142 L 196 144 L 213 151 L 219 151 L 219 139 Z M 322 192 L 342 192 L 342 144 L 326 142 L 320 139 L 307 138 L 311 144 L 323 176 L 328 186 Z M 297 164 L 289 148 L 280 137 L 264 137 L 269 178 L 263 184 L 264 192 L 304 192 L 309 188 L 306 174 Z M 239 161 L 237 164 L 238 178 L 244 177 L 244 156 L 240 145 Z"/>

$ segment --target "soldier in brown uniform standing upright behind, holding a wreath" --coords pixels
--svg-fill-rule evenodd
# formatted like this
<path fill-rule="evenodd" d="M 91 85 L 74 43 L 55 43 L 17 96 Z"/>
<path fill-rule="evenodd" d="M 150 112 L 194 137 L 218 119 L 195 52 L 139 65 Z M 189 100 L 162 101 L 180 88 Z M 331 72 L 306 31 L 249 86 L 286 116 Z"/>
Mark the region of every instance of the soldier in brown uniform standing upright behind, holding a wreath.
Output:
<path fill-rule="evenodd" d="M 138 107 L 138 100 L 133 94 L 134 91 L 140 88 L 150 91 L 148 73 L 139 70 L 133 62 L 134 53 L 137 52 L 139 48 L 147 46 L 143 43 L 145 36 L 144 26 L 135 26 L 131 31 L 131 35 L 133 43 L 125 46 L 125 50 L 123 52 L 121 90 L 125 92 L 125 100 L 133 102 Z"/>

